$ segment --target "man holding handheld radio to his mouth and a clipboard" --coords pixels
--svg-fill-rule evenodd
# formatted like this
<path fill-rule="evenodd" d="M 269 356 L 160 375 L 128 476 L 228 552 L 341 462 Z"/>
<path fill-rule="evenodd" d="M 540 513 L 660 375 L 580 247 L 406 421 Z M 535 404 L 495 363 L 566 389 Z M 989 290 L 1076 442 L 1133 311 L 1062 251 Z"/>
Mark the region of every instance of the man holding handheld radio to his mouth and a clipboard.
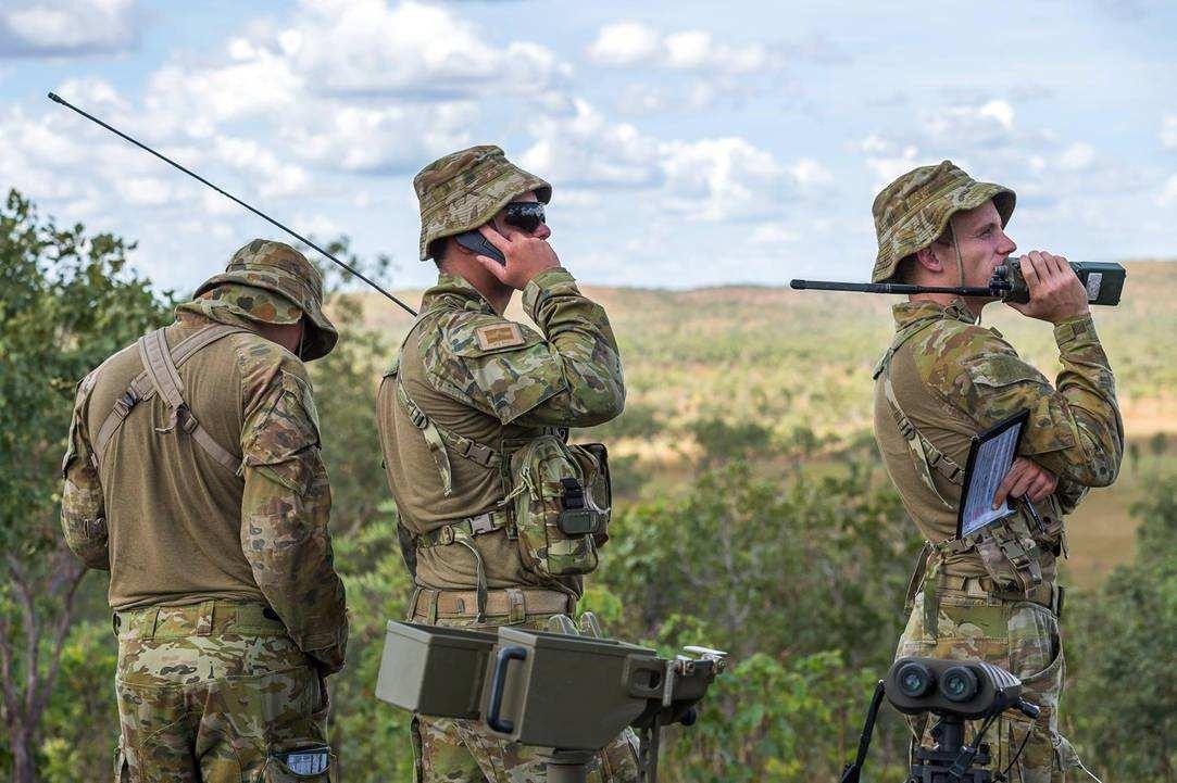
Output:
<path fill-rule="evenodd" d="M 985 286 L 1017 249 L 1004 233 L 1013 203 L 1012 190 L 977 182 L 950 161 L 904 174 L 875 200 L 872 281 Z M 1031 722 L 1008 714 L 988 740 L 991 769 L 1010 767 L 1010 779 L 1029 783 L 1062 781 L 1079 763 L 1058 734 L 1064 664 L 1056 561 L 1066 554 L 1064 515 L 1088 488 L 1116 480 L 1124 435 L 1083 285 L 1050 253 L 1023 256 L 1022 269 L 1030 302 L 1012 307 L 1055 326 L 1063 364 L 1056 387 L 996 329 L 978 324 L 993 300 L 916 294 L 895 306 L 896 336 L 876 369 L 875 434 L 927 541 L 898 656 L 982 658 L 1019 676 L 1042 715 Z M 1042 524 L 1019 502 L 1017 515 L 979 540 L 957 540 L 970 439 L 1026 409 L 1019 456 L 993 507 L 1029 497 Z"/>

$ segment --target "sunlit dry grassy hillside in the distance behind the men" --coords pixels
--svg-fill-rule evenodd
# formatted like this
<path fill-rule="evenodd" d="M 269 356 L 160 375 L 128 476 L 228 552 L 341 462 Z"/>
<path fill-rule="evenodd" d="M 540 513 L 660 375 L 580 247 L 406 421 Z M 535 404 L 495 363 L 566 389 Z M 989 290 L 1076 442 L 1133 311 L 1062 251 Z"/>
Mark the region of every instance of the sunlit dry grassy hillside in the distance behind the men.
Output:
<path fill-rule="evenodd" d="M 1096 323 L 1132 446 L 1121 481 L 1092 493 L 1072 520 L 1069 568 L 1079 584 L 1131 555 L 1128 507 L 1150 476 L 1177 463 L 1177 261 L 1126 266 L 1124 302 L 1097 308 Z M 892 333 L 896 297 L 767 287 L 585 290 L 609 310 L 629 384 L 626 413 L 603 435 L 652 476 L 647 487 L 690 481 L 692 424 L 703 420 L 759 423 L 782 441 L 811 443 L 807 461 L 831 464 L 870 430 L 870 375 Z M 404 294 L 420 300 L 420 292 Z M 366 321 L 394 344 L 408 316 L 378 295 L 361 299 Z M 1049 324 L 997 304 L 985 322 L 1048 375 L 1057 372 Z"/>

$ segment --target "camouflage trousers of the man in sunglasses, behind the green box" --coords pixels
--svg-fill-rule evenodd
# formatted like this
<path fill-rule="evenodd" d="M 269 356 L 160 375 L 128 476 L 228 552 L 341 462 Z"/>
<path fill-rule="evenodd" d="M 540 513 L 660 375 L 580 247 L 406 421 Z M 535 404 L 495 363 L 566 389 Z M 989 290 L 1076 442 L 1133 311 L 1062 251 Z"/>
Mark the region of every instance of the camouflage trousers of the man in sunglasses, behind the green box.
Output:
<path fill-rule="evenodd" d="M 474 617 L 438 617 L 433 624 L 493 631 L 512 624 L 547 630 L 552 615 L 527 614 L 521 621 L 507 615 L 487 615 L 486 623 Z M 426 613 L 417 611 L 414 623 L 428 623 Z M 547 772 L 537 749 L 505 742 L 480 730 L 474 721 L 413 718 L 415 783 L 546 783 Z M 638 738 L 631 729 L 618 735 L 597 757 L 588 774 L 592 783 L 637 783 Z"/>

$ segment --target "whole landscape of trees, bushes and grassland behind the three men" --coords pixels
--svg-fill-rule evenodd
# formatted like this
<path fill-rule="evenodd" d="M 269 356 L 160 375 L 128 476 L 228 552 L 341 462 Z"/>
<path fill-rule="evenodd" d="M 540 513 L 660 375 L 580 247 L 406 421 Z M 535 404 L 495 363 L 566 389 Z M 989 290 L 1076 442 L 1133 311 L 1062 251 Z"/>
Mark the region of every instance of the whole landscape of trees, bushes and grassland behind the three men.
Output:
<path fill-rule="evenodd" d="M 20 783 L 109 778 L 107 578 L 64 548 L 58 464 L 73 384 L 171 320 L 175 297 L 128 270 L 126 248 L 61 229 L 16 194 L 0 208 L 0 765 Z M 1129 450 L 1116 486 L 1071 518 L 1063 724 L 1103 779 L 1173 781 L 1177 262 L 1128 267 L 1124 303 L 1096 317 Z M 407 716 L 373 696 L 385 621 L 403 616 L 410 590 L 373 403 L 410 321 L 327 272 L 343 339 L 310 367 L 353 622 L 348 667 L 333 678 L 333 741 L 343 779 L 407 781 Z M 870 435 L 890 301 L 744 287 L 586 293 L 612 319 L 629 401 L 616 421 L 577 433 L 610 444 L 618 495 L 585 608 L 609 634 L 664 654 L 692 643 L 732 652 L 698 724 L 667 737 L 663 779 L 836 779 L 892 657 L 919 548 Z M 1057 367 L 1048 324 L 990 313 L 1023 355 Z M 866 779 L 900 781 L 900 722 L 885 711 L 878 731 Z"/>

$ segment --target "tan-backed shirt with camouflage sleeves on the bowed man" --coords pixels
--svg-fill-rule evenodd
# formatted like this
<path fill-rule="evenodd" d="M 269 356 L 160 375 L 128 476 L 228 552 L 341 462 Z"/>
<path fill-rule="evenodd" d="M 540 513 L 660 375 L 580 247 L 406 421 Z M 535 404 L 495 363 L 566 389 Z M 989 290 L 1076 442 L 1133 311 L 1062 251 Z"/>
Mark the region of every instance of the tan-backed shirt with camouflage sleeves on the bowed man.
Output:
<path fill-rule="evenodd" d="M 215 300 L 182 304 L 169 346 L 217 321 L 250 329 L 180 368 L 193 414 L 241 455 L 232 474 L 180 431 L 155 395 L 132 409 L 101 467 L 91 433 L 141 369 L 134 346 L 79 386 L 61 524 L 91 568 L 111 570 L 115 610 L 225 598 L 268 604 L 326 671 L 343 665 L 344 585 L 334 571 L 331 489 L 302 362 Z M 142 408 L 142 409 L 140 409 Z"/>

